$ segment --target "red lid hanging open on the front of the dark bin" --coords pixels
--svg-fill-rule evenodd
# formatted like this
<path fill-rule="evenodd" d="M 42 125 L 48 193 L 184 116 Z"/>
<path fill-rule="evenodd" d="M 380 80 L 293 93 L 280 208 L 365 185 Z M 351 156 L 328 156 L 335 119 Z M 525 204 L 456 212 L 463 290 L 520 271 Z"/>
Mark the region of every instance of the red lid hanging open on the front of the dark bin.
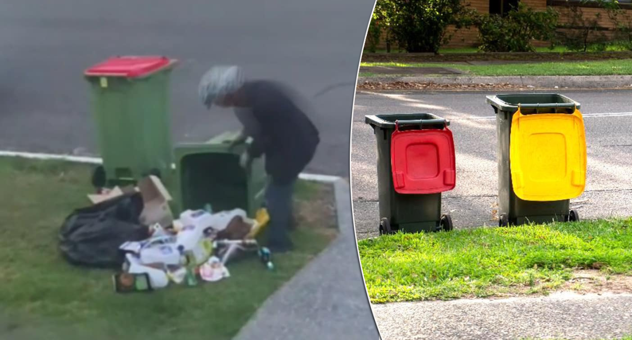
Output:
<path fill-rule="evenodd" d="M 391 137 L 393 185 L 399 194 L 435 194 L 454 189 L 454 139 L 444 129 L 399 131 Z"/>

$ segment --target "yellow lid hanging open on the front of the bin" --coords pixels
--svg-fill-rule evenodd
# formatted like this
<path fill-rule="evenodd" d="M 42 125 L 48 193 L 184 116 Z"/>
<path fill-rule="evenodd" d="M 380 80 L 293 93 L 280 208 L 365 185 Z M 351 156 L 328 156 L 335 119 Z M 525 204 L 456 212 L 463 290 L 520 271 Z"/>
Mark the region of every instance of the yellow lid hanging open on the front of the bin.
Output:
<path fill-rule="evenodd" d="M 586 136 L 581 112 L 523 115 L 511 122 L 509 161 L 516 196 L 559 201 L 581 195 L 586 185 Z"/>

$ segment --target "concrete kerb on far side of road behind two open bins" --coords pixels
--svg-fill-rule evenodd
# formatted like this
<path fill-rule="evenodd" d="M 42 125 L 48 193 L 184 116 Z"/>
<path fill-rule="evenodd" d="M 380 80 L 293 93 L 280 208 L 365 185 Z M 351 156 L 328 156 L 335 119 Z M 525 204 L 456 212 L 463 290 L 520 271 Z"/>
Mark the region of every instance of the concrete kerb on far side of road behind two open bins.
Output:
<path fill-rule="evenodd" d="M 511 84 L 537 88 L 631 88 L 632 76 L 375 76 L 360 77 L 358 85 L 368 82 L 435 83 L 441 85 Z"/>

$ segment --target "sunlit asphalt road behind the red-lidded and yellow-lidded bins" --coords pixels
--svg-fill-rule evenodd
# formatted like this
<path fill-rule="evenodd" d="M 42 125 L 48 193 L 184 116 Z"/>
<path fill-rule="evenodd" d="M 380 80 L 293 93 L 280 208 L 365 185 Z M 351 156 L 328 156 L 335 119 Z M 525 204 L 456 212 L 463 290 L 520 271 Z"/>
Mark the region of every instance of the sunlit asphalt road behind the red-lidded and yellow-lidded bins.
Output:
<path fill-rule="evenodd" d="M 550 92 L 550 91 L 549 91 Z M 502 91 L 501 93 L 506 93 Z M 571 207 L 580 218 L 632 214 L 632 109 L 630 90 L 559 90 L 581 103 L 586 127 L 586 189 Z M 356 235 L 377 236 L 379 211 L 375 137 L 364 116 L 385 113 L 437 114 L 451 120 L 456 148 L 456 187 L 444 192 L 442 209 L 455 228 L 497 225 L 496 131 L 488 91 L 360 92 L 356 94 L 351 141 L 351 191 Z"/>

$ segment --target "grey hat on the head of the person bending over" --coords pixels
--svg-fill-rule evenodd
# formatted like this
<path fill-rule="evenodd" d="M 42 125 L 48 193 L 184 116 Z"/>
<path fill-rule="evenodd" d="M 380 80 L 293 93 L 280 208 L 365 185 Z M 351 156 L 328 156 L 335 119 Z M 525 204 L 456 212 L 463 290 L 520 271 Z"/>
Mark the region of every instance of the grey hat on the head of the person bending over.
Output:
<path fill-rule="evenodd" d="M 233 93 L 244 83 L 243 73 L 239 66 L 213 66 L 202 79 L 198 93 L 200 100 L 210 108 L 217 97 Z"/>

